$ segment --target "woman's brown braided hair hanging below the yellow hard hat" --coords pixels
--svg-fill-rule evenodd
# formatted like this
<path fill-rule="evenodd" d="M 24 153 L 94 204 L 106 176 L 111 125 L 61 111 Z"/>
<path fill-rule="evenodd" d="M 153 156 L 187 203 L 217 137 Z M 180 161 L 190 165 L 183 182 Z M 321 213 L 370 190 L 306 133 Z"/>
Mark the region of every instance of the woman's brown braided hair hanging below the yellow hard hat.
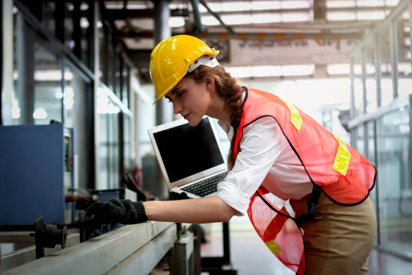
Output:
<path fill-rule="evenodd" d="M 235 155 L 233 153 L 236 136 L 238 135 L 238 128 L 243 114 L 242 94 L 244 87 L 238 85 L 236 79 L 233 78 L 224 67 L 197 67 L 192 74 L 188 74 L 196 83 L 202 83 L 205 79 L 212 77 L 216 84 L 216 91 L 218 96 L 225 99 L 225 108 L 231 111 L 230 122 L 233 127 L 233 138 L 230 144 L 230 151 L 227 157 L 227 164 L 229 170 L 235 165 Z"/>

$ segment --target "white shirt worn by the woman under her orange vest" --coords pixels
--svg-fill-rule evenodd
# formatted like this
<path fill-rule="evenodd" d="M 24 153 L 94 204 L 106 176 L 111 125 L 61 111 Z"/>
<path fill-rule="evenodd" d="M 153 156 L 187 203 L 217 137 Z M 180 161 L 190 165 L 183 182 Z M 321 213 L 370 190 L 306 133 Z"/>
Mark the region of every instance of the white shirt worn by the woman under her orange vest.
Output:
<path fill-rule="evenodd" d="M 229 122 L 218 124 L 231 140 L 233 127 Z M 227 205 L 238 210 L 238 215 L 247 214 L 250 198 L 261 184 L 284 200 L 301 199 L 312 192 L 304 166 L 275 119 L 264 117 L 246 126 L 240 148 L 233 169 L 218 184 L 217 193 Z"/>

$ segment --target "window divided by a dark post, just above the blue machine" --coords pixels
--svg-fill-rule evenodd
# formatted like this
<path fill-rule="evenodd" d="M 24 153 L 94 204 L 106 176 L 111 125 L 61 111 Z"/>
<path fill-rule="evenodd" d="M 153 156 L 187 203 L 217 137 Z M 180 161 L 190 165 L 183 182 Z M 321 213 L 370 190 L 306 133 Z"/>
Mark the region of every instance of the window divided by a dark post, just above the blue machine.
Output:
<path fill-rule="evenodd" d="M 36 34 L 27 23 L 19 21 L 16 27 L 23 30 L 23 34 L 14 32 L 14 124 L 49 124 L 51 120 L 62 122 L 63 76 L 59 57 L 49 51 L 47 45 L 38 42 Z M 30 36 L 30 40 L 27 36 Z M 64 77 L 69 79 L 71 75 Z"/>

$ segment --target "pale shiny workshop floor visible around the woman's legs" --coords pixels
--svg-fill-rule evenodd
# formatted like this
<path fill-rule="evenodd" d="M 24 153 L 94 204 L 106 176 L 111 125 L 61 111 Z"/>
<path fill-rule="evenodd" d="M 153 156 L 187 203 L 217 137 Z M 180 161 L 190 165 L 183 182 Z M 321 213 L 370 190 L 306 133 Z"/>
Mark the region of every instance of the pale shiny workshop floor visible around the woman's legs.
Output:
<path fill-rule="evenodd" d="M 255 233 L 247 217 L 235 217 L 230 222 L 231 262 L 238 275 L 292 275 L 294 272 L 284 267 Z M 222 225 L 206 225 L 209 243 L 202 245 L 202 256 L 222 256 Z M 411 275 L 412 262 L 403 261 L 389 254 L 373 250 L 369 259 L 371 275 Z"/>

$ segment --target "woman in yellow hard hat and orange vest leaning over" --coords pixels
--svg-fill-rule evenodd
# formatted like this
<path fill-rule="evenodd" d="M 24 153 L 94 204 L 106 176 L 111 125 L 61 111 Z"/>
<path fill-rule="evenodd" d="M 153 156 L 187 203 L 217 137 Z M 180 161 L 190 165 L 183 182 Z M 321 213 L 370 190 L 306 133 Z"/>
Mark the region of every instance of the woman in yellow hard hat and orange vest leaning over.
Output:
<path fill-rule="evenodd" d="M 369 199 L 374 166 L 293 104 L 238 85 L 217 54 L 193 36 L 178 35 L 150 56 L 155 102 L 164 96 L 191 126 L 203 115 L 216 118 L 231 140 L 229 173 L 217 195 L 98 201 L 87 217 L 213 223 L 247 214 L 268 249 L 296 274 L 367 274 L 376 238 Z"/>

